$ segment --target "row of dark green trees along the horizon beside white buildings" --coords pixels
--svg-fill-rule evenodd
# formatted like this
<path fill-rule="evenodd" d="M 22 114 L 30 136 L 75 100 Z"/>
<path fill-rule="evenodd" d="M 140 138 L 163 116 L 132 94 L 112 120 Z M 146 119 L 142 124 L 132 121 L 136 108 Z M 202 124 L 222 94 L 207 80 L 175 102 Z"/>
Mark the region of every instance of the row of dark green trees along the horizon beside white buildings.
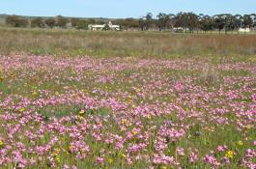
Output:
<path fill-rule="evenodd" d="M 89 24 L 104 24 L 106 19 L 83 19 L 68 18 L 62 15 L 55 17 L 27 17 L 18 15 L 9 15 L 6 23 L 14 27 L 39 27 L 39 28 L 67 28 L 88 29 Z M 194 13 L 178 13 L 178 14 L 157 14 L 156 17 L 152 13 L 148 13 L 141 18 L 120 18 L 113 19 L 113 24 L 121 26 L 122 30 L 158 30 L 158 31 L 234 31 L 239 28 L 256 27 L 256 14 L 194 14 Z"/>

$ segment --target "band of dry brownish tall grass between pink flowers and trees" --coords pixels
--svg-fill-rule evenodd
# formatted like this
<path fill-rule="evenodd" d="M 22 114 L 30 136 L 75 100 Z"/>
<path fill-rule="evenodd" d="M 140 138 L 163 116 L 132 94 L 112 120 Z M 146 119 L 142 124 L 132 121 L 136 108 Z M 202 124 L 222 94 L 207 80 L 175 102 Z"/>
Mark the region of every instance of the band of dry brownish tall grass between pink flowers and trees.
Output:
<path fill-rule="evenodd" d="M 256 54 L 256 35 L 189 35 L 145 32 L 0 29 L 0 53 L 190 57 Z"/>

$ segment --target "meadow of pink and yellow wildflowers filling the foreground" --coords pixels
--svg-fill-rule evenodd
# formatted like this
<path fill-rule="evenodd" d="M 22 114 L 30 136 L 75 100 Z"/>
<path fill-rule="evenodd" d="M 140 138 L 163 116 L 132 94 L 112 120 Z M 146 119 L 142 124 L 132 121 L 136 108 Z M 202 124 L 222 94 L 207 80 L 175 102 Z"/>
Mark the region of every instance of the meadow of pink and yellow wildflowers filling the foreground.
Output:
<path fill-rule="evenodd" d="M 0 168 L 255 169 L 256 63 L 0 57 Z"/>

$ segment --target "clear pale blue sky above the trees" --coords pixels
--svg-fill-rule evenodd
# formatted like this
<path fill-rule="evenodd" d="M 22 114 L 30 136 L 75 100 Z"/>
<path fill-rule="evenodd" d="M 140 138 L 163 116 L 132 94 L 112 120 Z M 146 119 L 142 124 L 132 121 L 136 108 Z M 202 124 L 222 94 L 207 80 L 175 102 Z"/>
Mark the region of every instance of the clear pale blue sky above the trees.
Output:
<path fill-rule="evenodd" d="M 141 17 L 176 14 L 252 14 L 256 0 L 0 0 L 0 14 Z"/>

